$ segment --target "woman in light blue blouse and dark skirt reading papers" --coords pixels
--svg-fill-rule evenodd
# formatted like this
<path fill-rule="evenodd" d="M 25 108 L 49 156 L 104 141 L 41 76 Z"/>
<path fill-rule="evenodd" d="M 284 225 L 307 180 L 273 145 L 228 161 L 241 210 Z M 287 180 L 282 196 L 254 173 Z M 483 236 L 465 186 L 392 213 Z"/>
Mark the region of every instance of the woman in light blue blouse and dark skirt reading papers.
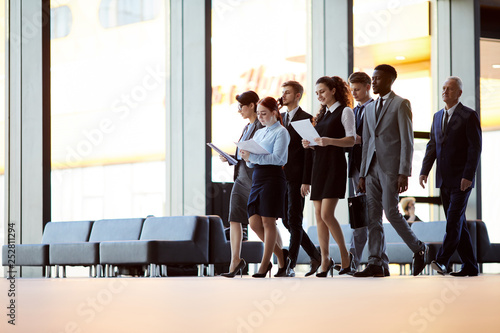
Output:
<path fill-rule="evenodd" d="M 276 220 L 284 216 L 283 207 L 286 195 L 286 181 L 283 165 L 288 159 L 290 135 L 281 123 L 278 102 L 266 97 L 257 104 L 257 117 L 265 126 L 258 130 L 253 139 L 270 154 L 257 155 L 241 150 L 241 157 L 247 165 L 254 168 L 252 188 L 248 197 L 248 216 L 250 227 L 264 242 L 259 271 L 252 275 L 256 278 L 271 277 L 271 255 L 274 251 L 278 258 L 279 270 L 276 276 L 286 273 L 287 253 L 282 250 L 281 236 Z"/>

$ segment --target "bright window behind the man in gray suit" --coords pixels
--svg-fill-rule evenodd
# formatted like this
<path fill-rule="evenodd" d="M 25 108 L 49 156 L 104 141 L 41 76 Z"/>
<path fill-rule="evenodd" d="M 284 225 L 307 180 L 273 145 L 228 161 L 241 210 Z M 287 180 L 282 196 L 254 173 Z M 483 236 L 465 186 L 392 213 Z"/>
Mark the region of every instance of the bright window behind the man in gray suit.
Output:
<path fill-rule="evenodd" d="M 372 75 L 379 64 L 396 68 L 398 78 L 392 90 L 407 98 L 412 106 L 413 130 L 430 131 L 435 112 L 432 108 L 431 36 L 428 1 L 396 2 L 355 0 L 354 13 L 354 71 Z M 412 22 L 407 24 L 407 22 Z M 372 94 L 373 95 L 373 94 Z M 378 95 L 373 96 L 375 98 Z M 433 186 L 426 189 L 418 183 L 427 140 L 415 139 L 412 177 L 404 196 L 427 197 Z M 428 204 L 416 205 L 417 215 L 424 221 L 431 216 Z"/>

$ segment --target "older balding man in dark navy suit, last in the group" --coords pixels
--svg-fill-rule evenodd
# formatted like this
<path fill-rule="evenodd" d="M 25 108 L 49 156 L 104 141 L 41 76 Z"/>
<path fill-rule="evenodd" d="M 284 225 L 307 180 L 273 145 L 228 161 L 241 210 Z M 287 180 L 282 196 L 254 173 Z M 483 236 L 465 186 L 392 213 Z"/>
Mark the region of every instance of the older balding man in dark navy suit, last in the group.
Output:
<path fill-rule="evenodd" d="M 431 267 L 440 274 L 446 274 L 450 258 L 457 250 L 462 269 L 450 275 L 477 276 L 479 269 L 465 210 L 481 155 L 481 125 L 477 112 L 459 102 L 461 95 L 462 80 L 456 76 L 449 77 L 442 91 L 446 106 L 434 114 L 419 181 L 425 188 L 427 176 L 436 160 L 436 187 L 441 189 L 446 234 Z"/>

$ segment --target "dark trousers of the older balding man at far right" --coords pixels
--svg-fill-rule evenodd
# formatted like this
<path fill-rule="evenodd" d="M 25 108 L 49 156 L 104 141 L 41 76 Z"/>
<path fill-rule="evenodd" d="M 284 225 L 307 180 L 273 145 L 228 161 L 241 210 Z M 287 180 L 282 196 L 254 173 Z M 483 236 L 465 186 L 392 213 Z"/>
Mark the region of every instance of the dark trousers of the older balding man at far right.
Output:
<path fill-rule="evenodd" d="M 441 201 L 446 214 L 446 234 L 436 260 L 446 267 L 449 266 L 450 258 L 456 250 L 465 268 L 478 270 L 465 217 L 470 192 L 470 188 L 461 191 L 459 188 L 441 187 Z"/>

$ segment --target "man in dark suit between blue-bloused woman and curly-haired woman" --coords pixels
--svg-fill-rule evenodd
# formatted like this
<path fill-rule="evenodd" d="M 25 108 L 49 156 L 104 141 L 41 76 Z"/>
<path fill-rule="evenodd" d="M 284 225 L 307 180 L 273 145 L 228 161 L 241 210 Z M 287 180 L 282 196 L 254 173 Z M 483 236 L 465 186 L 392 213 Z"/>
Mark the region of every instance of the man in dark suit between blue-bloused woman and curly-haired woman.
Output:
<path fill-rule="evenodd" d="M 302 146 L 302 138 L 290 124 L 293 121 L 309 119 L 312 116 L 302 110 L 299 101 L 304 93 L 304 88 L 297 81 L 286 81 L 281 85 L 283 106 L 287 112 L 281 117 L 284 126 L 290 134 L 288 145 L 288 162 L 284 167 L 287 181 L 287 196 L 285 198 L 285 217 L 283 224 L 290 232 L 290 247 L 287 258 L 287 275 L 295 276 L 294 267 L 297 263 L 300 246 L 311 258 L 311 269 L 306 276 L 314 274 L 321 265 L 321 254 L 309 239 L 302 228 L 302 217 L 304 210 L 304 197 L 309 194 L 311 184 L 312 158 L 307 158 L 309 149 Z"/>

